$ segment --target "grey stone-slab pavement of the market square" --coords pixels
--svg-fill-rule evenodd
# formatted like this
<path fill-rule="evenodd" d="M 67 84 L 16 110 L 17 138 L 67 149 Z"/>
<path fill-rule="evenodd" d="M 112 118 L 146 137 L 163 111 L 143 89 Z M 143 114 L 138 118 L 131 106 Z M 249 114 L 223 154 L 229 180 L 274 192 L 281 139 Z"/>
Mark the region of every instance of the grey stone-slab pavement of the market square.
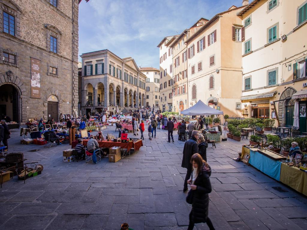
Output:
<path fill-rule="evenodd" d="M 115 126 L 104 130 L 115 133 Z M 147 129 L 146 129 L 147 130 Z M 19 130 L 9 140 L 9 152 L 23 152 L 27 162 L 39 161 L 41 175 L 26 183 L 15 176 L 0 190 L 0 229 L 187 229 L 191 205 L 185 202 L 181 168 L 184 142 L 167 142 L 157 130 L 140 151 L 117 163 L 103 159 L 64 163 L 69 145 L 43 148 L 21 145 Z M 117 133 L 116 133 L 117 134 Z M 129 134 L 129 136 L 133 136 Z M 140 136 L 140 135 L 138 135 Z M 242 144 L 227 140 L 207 149 L 213 190 L 209 217 L 216 229 L 307 229 L 307 198 L 252 166 L 235 162 Z M 40 149 L 36 152 L 29 150 Z M 280 186 L 281 193 L 272 187 Z M 194 229 L 208 229 L 196 224 Z"/>

